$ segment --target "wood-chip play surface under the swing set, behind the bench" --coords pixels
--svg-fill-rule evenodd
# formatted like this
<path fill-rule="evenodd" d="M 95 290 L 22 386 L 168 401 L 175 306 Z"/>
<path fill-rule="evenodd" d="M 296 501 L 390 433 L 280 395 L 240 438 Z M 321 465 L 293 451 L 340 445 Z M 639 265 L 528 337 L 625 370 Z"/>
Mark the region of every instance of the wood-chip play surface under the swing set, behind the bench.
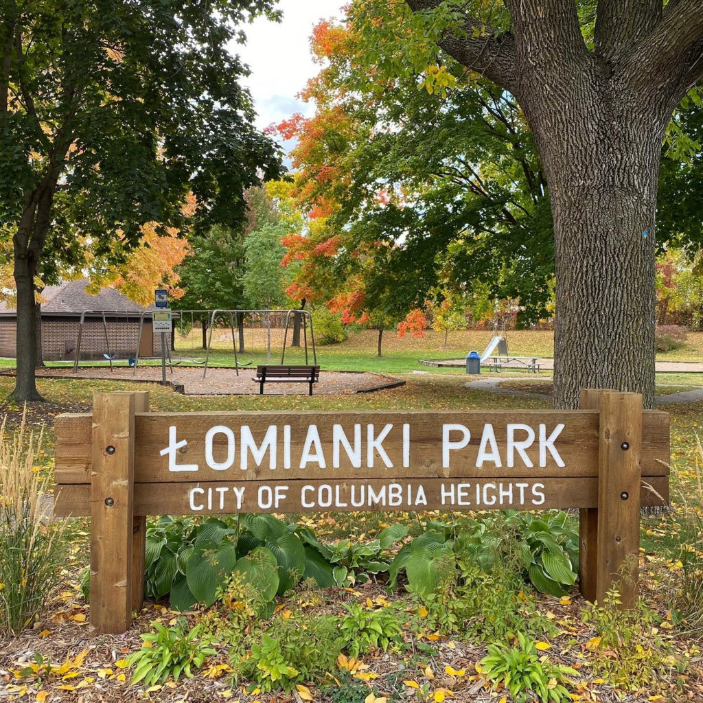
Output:
<path fill-rule="evenodd" d="M 210 368 L 203 378 L 202 366 L 172 366 L 167 369 L 167 383 L 186 395 L 258 395 L 259 384 L 254 381 L 256 368 Z M 139 366 L 134 373 L 127 366 L 81 366 L 77 373 L 72 368 L 46 368 L 37 373 L 38 378 L 102 378 L 125 382 L 161 382 L 160 366 Z M 404 385 L 390 376 L 378 373 L 353 371 L 323 371 L 314 385 L 315 395 L 370 393 Z M 305 383 L 279 383 L 267 385 L 266 395 L 307 395 Z"/>

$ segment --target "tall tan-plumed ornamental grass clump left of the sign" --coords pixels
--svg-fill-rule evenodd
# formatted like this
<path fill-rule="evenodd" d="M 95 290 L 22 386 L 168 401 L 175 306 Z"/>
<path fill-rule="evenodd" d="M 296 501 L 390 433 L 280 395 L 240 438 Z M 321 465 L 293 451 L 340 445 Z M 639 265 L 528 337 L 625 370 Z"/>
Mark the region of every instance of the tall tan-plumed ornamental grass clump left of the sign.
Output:
<path fill-rule="evenodd" d="M 7 419 L 7 418 L 6 418 Z M 0 426 L 0 632 L 17 635 L 41 612 L 60 579 L 63 529 L 49 521 L 49 476 L 36 465 L 39 437 Z"/>

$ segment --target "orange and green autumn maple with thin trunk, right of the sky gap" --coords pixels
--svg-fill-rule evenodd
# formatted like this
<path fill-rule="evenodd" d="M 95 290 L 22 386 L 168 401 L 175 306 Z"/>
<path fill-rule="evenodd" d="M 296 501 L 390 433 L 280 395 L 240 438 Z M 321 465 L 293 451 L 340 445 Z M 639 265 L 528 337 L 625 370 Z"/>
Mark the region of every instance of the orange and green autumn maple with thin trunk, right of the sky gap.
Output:
<path fill-rule="evenodd" d="M 283 240 L 287 249 L 283 265 L 295 269 L 287 291 L 290 297 L 324 302 L 342 315 L 343 323 L 378 330 L 381 356 L 385 330 L 400 324 L 401 336 L 408 331 L 422 334 L 425 321 L 415 263 L 397 244 L 402 232 L 385 231 L 373 221 L 363 231 L 342 226 L 350 219 L 350 208 L 363 208 L 365 203 L 399 207 L 403 199 L 402 193 L 378 186 L 354 203 L 344 197 L 351 183 L 348 149 L 363 138 L 359 131 L 368 129 L 347 115 L 331 88 L 353 41 L 347 27 L 320 22 L 314 28 L 311 51 L 323 67 L 302 97 L 316 104 L 316 114 L 293 115 L 276 128 L 285 140 L 297 142 L 291 153 L 295 176 L 288 197 L 304 213 L 304 226 Z M 332 56 L 335 61 L 328 61 Z"/>

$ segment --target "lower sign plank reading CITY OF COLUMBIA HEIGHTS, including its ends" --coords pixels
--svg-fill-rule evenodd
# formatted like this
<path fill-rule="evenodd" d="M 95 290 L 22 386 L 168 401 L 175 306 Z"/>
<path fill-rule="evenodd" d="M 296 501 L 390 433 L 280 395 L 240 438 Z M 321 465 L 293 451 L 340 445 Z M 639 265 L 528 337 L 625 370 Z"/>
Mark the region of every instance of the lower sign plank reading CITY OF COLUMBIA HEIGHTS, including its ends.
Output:
<path fill-rule="evenodd" d="M 642 505 L 663 505 L 669 481 L 653 477 Z M 422 491 L 420 492 L 420 487 Z M 86 515 L 90 488 L 58 486 L 54 515 Z M 657 495 L 658 494 L 658 495 Z M 659 497 L 661 496 L 661 498 Z M 522 500 L 521 500 L 522 498 Z M 662 501 L 664 499 L 664 502 Z M 489 510 L 595 508 L 598 479 L 398 479 L 181 482 L 134 484 L 134 510 L 148 515 L 214 515 L 237 512 L 356 512 L 363 510 Z"/>

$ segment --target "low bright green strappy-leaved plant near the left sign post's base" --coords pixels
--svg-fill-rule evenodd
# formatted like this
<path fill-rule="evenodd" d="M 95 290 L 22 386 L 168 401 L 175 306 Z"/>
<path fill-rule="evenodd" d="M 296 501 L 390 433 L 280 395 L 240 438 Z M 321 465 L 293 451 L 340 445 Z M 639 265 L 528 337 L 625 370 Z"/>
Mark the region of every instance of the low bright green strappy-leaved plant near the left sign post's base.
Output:
<path fill-rule="evenodd" d="M 132 684 L 142 681 L 144 685 L 152 686 L 164 683 L 169 676 L 178 681 L 181 673 L 193 678 L 194 671 L 200 669 L 207 657 L 217 654 L 209 646 L 209 638 L 201 636 L 200 625 L 188 628 L 183 618 L 169 628 L 157 622 L 152 625 L 155 633 L 141 635 L 144 642 L 150 644 L 127 657 L 129 665 L 134 666 Z"/>

